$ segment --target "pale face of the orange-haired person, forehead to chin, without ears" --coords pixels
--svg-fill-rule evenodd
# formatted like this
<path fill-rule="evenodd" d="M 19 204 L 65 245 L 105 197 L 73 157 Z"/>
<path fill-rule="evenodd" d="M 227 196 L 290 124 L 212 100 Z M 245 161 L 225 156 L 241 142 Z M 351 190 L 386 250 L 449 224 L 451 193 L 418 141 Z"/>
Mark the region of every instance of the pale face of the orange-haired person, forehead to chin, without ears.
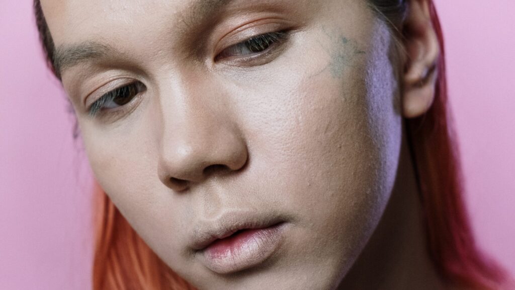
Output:
<path fill-rule="evenodd" d="M 402 134 L 365 1 L 42 5 L 96 179 L 166 264 L 201 289 L 336 287 Z"/>

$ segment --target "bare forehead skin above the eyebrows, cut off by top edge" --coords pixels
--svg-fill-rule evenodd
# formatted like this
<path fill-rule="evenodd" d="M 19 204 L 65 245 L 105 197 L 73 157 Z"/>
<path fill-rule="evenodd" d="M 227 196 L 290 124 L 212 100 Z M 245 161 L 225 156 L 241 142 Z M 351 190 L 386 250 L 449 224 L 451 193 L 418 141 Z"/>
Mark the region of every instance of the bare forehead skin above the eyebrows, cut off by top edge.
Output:
<path fill-rule="evenodd" d="M 152 27 L 193 27 L 203 18 L 238 6 L 283 6 L 310 3 L 307 0 L 41 0 L 47 24 L 56 45 L 91 38 L 112 38 L 131 34 L 149 36 Z"/>

